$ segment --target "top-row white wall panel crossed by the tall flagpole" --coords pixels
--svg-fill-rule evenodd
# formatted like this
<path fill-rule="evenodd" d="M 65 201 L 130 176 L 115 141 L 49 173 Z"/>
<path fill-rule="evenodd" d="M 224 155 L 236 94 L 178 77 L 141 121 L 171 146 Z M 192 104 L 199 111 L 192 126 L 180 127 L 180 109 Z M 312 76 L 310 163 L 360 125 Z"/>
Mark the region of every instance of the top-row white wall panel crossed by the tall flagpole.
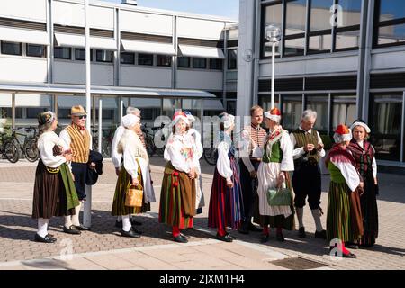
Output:
<path fill-rule="evenodd" d="M 67 2 L 53 2 L 54 23 L 69 26 L 85 26 L 85 5 Z M 90 27 L 113 30 L 114 10 L 90 6 Z"/>

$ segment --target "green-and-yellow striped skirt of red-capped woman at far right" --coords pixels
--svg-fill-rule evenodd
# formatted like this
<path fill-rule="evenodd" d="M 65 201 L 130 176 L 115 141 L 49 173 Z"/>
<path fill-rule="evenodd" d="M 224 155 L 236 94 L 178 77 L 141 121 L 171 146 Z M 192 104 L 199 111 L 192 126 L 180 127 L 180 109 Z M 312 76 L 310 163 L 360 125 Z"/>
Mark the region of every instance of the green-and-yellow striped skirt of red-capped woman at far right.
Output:
<path fill-rule="evenodd" d="M 346 183 L 330 182 L 327 215 L 328 241 L 355 242 L 363 235 L 360 198 Z"/>

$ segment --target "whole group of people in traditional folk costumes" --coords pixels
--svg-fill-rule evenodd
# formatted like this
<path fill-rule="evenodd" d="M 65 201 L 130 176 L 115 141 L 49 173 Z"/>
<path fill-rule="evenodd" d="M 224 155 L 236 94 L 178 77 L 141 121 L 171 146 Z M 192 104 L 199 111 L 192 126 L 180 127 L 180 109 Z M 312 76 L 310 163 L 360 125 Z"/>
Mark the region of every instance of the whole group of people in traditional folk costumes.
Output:
<path fill-rule="evenodd" d="M 315 238 L 328 239 L 332 243 L 330 248 L 342 257 L 356 257 L 347 247 L 373 246 L 378 237 L 378 184 L 374 148 L 366 140 L 371 130 L 365 122 L 356 121 L 351 129 L 341 124 L 335 130 L 335 145 L 325 160 L 331 178 L 325 230 L 320 220 L 323 212 L 319 164 L 326 153 L 320 133 L 313 129 L 316 112 L 303 112 L 300 127 L 291 133 L 280 125 L 282 115 L 277 108 L 264 112 L 260 106 L 254 106 L 250 114 L 251 124 L 240 133 L 247 140 L 243 148 L 235 147 L 235 117 L 226 112 L 220 114 L 218 161 L 208 211 L 208 226 L 217 229 L 216 238 L 231 242 L 235 237 L 227 228 L 243 234 L 261 231 L 260 241 L 265 243 L 270 238 L 269 229 L 275 228 L 275 238 L 284 241 L 283 229 L 295 229 L 294 214 L 299 222 L 298 236 L 305 238 L 302 219 L 308 198 L 316 226 Z M 39 115 L 40 161 L 32 209 L 32 217 L 38 219 L 35 240 L 39 242 L 56 241 L 48 233 L 52 216 L 65 217 L 66 233 L 80 234 L 88 229 L 80 224 L 78 214 L 85 201 L 86 170 L 95 166 L 89 159 L 92 139 L 85 129 L 83 107 L 72 107 L 71 118 L 72 123 L 58 137 L 54 132 L 58 124 L 56 115 L 53 112 Z M 193 129 L 193 121 L 190 112 L 175 112 L 164 154 L 166 167 L 158 221 L 171 227 L 173 239 L 180 243 L 188 241 L 184 229 L 193 228 L 193 217 L 202 212 L 205 204 L 201 135 Z M 263 122 L 268 133 L 261 127 Z M 244 153 L 237 161 L 237 151 L 241 150 Z M 136 108 L 127 109 L 115 131 L 112 163 L 118 176 L 112 203 L 112 215 L 117 216 L 115 226 L 121 228 L 122 236 L 139 238 L 141 231 L 134 226 L 141 223 L 132 215 L 150 211 L 150 203 L 156 202 L 156 196 L 140 129 L 140 111 Z M 143 190 L 142 207 L 125 205 L 131 184 Z M 270 206 L 267 191 L 279 187 L 293 187 L 291 202 Z"/>

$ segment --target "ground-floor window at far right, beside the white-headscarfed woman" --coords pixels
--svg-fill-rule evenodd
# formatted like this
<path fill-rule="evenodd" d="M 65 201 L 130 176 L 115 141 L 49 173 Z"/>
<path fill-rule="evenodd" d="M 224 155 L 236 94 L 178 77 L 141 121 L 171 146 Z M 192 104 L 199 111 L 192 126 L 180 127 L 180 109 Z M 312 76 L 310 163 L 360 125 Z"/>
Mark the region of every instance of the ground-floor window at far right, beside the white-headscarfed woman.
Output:
<path fill-rule="evenodd" d="M 371 142 L 376 157 L 401 161 L 402 95 L 374 95 Z"/>

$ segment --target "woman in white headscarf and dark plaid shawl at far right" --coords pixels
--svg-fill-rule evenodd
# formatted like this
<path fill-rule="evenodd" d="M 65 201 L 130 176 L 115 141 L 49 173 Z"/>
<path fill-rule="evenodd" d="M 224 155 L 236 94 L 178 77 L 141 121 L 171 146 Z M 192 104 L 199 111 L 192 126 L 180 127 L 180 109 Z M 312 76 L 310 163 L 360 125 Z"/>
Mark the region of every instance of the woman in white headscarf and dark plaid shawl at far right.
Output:
<path fill-rule="evenodd" d="M 378 182 L 377 182 L 377 162 L 375 161 L 375 150 L 373 145 L 367 141 L 370 128 L 365 121 L 357 120 L 350 127 L 353 133 L 353 139 L 347 149 L 352 152 L 356 160 L 357 170 L 363 177 L 365 187 L 360 197 L 363 226 L 365 233 L 359 244 L 361 247 L 372 247 L 375 244 L 375 239 L 378 237 L 378 210 L 377 198 Z"/>

